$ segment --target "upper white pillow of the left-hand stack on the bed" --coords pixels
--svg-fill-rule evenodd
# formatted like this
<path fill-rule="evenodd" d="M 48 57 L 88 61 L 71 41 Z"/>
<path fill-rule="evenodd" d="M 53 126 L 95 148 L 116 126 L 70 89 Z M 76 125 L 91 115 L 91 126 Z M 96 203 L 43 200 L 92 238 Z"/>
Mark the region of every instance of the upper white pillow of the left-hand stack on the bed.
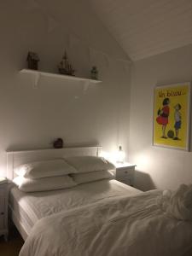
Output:
<path fill-rule="evenodd" d="M 32 162 L 15 169 L 17 175 L 29 178 L 62 176 L 73 172 L 77 171 L 62 159 Z"/>

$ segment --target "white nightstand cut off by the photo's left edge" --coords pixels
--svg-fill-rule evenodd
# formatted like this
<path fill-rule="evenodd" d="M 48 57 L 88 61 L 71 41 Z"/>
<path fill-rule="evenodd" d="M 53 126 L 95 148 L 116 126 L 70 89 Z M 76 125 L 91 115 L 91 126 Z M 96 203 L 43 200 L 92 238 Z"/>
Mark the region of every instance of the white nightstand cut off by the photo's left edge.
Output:
<path fill-rule="evenodd" d="M 0 236 L 8 238 L 8 181 L 0 178 Z"/>

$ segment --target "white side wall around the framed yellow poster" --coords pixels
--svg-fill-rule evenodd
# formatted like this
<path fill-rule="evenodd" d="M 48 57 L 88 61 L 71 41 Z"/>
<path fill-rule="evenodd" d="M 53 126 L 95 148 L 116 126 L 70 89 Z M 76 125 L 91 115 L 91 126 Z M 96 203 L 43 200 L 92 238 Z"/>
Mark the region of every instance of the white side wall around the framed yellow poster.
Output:
<path fill-rule="evenodd" d="M 192 153 L 152 146 L 154 87 L 192 80 L 192 45 L 137 61 L 131 70 L 129 159 L 140 189 L 192 183 Z"/>

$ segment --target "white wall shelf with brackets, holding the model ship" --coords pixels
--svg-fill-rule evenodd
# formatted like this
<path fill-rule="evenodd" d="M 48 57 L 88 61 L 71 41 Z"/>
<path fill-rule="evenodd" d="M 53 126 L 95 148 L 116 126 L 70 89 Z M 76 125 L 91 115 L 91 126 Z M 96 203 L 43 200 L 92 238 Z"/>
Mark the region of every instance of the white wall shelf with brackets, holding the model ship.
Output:
<path fill-rule="evenodd" d="M 60 73 L 47 73 L 47 72 L 41 72 L 41 71 L 32 70 L 32 69 L 21 69 L 20 73 L 34 75 L 34 87 L 38 86 L 38 80 L 40 79 L 41 76 L 55 78 L 55 79 L 82 81 L 82 82 L 85 82 L 86 84 L 99 84 L 102 82 L 101 80 L 84 79 L 84 78 L 68 76 Z"/>

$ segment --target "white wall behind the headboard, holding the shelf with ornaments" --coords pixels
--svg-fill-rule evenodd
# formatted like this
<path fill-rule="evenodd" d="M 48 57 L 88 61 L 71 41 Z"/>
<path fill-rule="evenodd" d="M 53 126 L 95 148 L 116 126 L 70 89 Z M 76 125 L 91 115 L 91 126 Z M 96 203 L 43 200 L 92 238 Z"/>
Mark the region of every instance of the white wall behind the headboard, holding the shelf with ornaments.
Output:
<path fill-rule="evenodd" d="M 55 137 L 66 146 L 126 150 L 130 70 L 117 59 L 127 57 L 84 1 L 1 1 L 0 32 L 0 175 L 6 150 L 49 148 Z M 84 90 L 79 82 L 41 79 L 33 89 L 32 77 L 18 73 L 28 50 L 38 52 L 41 70 L 57 72 L 64 49 L 78 76 L 96 64 L 103 83 Z"/>

